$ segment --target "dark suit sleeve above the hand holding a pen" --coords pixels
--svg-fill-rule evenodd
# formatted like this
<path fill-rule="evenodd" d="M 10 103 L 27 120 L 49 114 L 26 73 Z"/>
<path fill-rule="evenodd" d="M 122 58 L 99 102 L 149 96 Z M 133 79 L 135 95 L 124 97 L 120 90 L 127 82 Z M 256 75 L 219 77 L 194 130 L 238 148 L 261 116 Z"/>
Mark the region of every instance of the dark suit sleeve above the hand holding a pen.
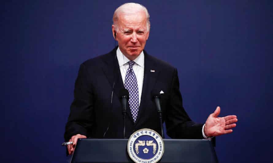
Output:
<path fill-rule="evenodd" d="M 65 127 L 64 139 L 68 141 L 71 136 L 81 134 L 88 136 L 94 124 L 93 95 L 91 76 L 84 64 L 79 68 L 75 82 L 74 100 L 70 107 L 70 114 Z"/>

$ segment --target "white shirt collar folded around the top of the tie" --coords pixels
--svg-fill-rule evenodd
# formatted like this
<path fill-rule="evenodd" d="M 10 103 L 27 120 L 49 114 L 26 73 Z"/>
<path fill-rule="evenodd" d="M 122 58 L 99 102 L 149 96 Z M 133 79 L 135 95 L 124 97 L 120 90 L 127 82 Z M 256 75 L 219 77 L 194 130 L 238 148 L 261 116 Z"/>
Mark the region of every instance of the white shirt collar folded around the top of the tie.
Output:
<path fill-rule="evenodd" d="M 117 61 L 119 64 L 119 67 L 123 66 L 124 64 L 128 63 L 130 60 L 122 54 L 119 47 L 117 48 Z M 135 60 L 133 60 L 136 64 L 138 64 L 140 67 L 144 67 L 144 53 L 143 50 L 141 51 L 140 55 L 136 57 Z"/>

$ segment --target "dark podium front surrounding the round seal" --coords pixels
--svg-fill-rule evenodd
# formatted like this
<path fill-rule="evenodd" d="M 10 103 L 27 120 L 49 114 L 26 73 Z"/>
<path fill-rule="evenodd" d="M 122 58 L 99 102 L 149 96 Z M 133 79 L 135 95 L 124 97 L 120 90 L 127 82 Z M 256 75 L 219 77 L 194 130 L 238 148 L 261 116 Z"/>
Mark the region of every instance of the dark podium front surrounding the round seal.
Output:
<path fill-rule="evenodd" d="M 217 163 L 210 140 L 163 139 L 160 163 Z M 133 162 L 127 154 L 128 139 L 78 139 L 71 163 Z"/>

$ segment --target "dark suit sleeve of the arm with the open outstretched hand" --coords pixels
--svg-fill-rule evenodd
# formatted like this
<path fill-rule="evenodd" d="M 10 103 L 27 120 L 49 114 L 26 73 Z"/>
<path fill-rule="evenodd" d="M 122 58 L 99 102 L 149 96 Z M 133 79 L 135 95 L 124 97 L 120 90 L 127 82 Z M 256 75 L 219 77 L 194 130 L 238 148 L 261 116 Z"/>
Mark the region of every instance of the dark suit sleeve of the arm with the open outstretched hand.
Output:
<path fill-rule="evenodd" d="M 176 68 L 173 72 L 168 106 L 165 117 L 168 136 L 173 139 L 203 139 L 203 124 L 192 121 L 183 108 Z"/>

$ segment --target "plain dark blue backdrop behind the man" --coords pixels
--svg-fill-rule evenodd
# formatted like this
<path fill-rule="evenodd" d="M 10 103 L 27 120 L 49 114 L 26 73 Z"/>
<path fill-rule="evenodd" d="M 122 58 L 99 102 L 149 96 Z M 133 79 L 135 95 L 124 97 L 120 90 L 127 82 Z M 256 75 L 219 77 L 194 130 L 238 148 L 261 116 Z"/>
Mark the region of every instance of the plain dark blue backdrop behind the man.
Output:
<path fill-rule="evenodd" d="M 1 162 L 65 162 L 64 126 L 80 63 L 109 52 L 125 1 L 1 5 Z M 146 50 L 179 71 L 184 107 L 205 122 L 217 105 L 236 129 L 217 137 L 220 162 L 272 158 L 271 1 L 136 1 L 151 15 Z"/>

